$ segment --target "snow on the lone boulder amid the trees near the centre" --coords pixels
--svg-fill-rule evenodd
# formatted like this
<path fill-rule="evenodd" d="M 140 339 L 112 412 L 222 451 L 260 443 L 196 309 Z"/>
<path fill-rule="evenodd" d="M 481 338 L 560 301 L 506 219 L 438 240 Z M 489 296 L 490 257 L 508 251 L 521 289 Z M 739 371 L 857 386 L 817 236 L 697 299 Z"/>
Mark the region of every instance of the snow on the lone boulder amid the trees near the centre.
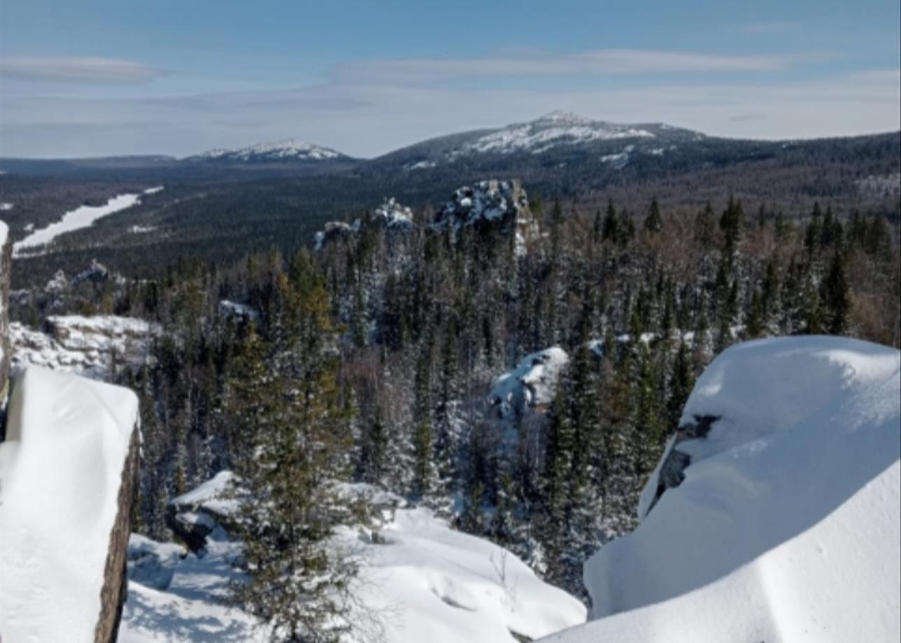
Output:
<path fill-rule="evenodd" d="M 569 355 L 559 346 L 526 355 L 514 370 L 497 377 L 488 401 L 503 418 L 525 406 L 550 404 L 557 393 L 560 373 L 568 363 Z"/>

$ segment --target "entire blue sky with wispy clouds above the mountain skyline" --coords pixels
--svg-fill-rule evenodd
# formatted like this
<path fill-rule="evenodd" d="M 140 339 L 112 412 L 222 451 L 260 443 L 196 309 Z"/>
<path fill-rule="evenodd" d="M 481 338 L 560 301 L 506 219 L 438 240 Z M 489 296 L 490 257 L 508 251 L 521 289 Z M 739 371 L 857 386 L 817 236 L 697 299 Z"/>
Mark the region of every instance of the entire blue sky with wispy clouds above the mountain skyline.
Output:
<path fill-rule="evenodd" d="M 901 4 L 0 2 L 0 155 L 296 137 L 375 156 L 566 109 L 710 134 L 901 128 Z"/>

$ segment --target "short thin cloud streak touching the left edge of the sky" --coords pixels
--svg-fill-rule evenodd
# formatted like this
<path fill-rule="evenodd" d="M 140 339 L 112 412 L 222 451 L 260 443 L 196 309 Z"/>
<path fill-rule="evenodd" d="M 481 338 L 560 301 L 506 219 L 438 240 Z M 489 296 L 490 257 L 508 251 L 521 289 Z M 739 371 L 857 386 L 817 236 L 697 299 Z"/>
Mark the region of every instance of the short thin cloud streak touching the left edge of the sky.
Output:
<path fill-rule="evenodd" d="M 0 77 L 76 83 L 146 83 L 162 69 L 133 60 L 108 58 L 4 58 Z"/>

